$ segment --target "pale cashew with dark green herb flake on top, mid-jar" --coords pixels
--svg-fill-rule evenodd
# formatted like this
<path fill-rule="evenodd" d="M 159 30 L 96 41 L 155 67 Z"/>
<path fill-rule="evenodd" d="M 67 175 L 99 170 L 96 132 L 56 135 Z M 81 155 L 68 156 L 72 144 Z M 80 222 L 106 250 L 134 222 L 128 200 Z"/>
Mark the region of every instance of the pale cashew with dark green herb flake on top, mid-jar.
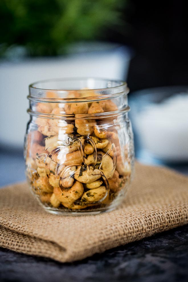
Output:
<path fill-rule="evenodd" d="M 99 169 L 93 170 L 93 167 L 89 167 L 86 170 L 83 170 L 83 167 L 78 167 L 74 174 L 74 178 L 82 183 L 91 183 L 100 177 L 101 171 Z"/>

